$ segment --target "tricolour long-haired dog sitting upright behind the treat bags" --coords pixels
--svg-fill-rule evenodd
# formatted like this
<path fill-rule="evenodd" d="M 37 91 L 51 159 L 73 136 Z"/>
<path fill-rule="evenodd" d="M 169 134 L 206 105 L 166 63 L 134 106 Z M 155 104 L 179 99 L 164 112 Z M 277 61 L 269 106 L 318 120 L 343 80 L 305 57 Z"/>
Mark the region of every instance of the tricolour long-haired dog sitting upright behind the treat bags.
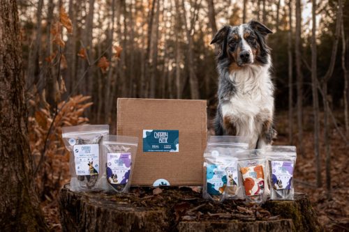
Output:
<path fill-rule="evenodd" d="M 218 44 L 216 57 L 218 109 L 214 118 L 216 135 L 237 135 L 248 139 L 250 149 L 272 144 L 274 130 L 274 84 L 266 38 L 272 31 L 251 21 L 225 25 L 211 44 Z"/>

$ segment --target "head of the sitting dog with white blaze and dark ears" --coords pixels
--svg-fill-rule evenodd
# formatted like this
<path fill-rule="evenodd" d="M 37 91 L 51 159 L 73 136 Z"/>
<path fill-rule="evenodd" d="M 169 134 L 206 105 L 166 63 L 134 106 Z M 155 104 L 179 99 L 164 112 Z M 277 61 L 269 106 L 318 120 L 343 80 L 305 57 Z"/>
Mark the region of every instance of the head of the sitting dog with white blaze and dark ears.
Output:
<path fill-rule="evenodd" d="M 257 21 L 239 26 L 225 25 L 216 33 L 211 44 L 217 43 L 221 47 L 218 59 L 229 59 L 230 64 L 238 67 L 264 65 L 269 62 L 265 38 L 270 33 L 273 32 Z"/>

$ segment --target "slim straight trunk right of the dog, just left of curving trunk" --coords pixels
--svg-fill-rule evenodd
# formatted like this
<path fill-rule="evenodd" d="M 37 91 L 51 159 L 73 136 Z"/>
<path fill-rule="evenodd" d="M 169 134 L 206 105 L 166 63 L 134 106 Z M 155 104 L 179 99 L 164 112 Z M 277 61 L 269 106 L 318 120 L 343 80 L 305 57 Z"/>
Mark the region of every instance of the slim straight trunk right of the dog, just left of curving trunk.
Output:
<path fill-rule="evenodd" d="M 319 121 L 319 98 L 318 98 L 318 71 L 316 65 L 316 0 L 313 1 L 312 20 L 313 29 L 311 35 L 311 90 L 313 92 L 313 114 L 314 114 L 314 153 L 316 162 L 316 185 L 321 187 L 321 156 L 320 156 L 320 121 Z"/>

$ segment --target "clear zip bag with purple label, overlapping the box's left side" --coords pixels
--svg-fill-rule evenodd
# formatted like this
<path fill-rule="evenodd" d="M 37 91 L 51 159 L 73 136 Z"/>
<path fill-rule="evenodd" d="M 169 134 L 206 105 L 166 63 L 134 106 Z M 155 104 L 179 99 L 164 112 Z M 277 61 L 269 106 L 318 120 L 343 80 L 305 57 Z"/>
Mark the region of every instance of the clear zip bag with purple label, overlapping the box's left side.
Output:
<path fill-rule="evenodd" d="M 98 183 L 103 190 L 128 192 L 131 186 L 138 138 L 120 135 L 103 137 L 103 176 Z"/>

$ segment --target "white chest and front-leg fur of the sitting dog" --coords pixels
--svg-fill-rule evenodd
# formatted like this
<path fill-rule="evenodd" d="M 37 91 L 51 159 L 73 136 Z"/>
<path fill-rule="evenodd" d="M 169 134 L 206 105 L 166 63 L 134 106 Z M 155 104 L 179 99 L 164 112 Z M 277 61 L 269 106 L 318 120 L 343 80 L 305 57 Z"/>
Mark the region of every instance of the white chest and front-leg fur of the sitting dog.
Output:
<path fill-rule="evenodd" d="M 249 65 L 230 72 L 235 92 L 221 102 L 223 124 L 234 125 L 236 134 L 250 138 L 250 147 L 258 141 L 262 126 L 272 122 L 274 86 L 269 65 Z M 263 145 L 263 144 L 260 144 Z"/>

